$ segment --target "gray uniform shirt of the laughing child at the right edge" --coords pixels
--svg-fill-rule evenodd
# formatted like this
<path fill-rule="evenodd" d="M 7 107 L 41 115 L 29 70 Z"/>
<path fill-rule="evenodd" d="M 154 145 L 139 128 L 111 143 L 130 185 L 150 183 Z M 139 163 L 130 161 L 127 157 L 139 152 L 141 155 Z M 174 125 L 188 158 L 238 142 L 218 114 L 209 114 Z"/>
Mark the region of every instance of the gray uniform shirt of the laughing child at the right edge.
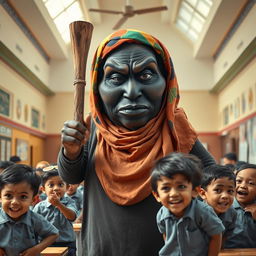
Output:
<path fill-rule="evenodd" d="M 235 229 L 226 240 L 224 248 L 256 248 L 256 220 L 253 219 L 250 212 L 244 210 L 236 199 L 233 202 L 233 207 L 237 212 Z"/>

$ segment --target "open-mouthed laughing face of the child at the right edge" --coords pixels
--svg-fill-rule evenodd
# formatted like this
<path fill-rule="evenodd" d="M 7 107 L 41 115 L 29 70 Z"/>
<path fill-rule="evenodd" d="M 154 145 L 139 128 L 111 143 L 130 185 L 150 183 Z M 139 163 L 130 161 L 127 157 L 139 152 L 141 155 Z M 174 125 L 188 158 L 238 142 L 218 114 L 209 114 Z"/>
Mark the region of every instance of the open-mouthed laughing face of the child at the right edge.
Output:
<path fill-rule="evenodd" d="M 256 169 L 244 169 L 236 176 L 236 199 L 246 206 L 256 200 Z"/>

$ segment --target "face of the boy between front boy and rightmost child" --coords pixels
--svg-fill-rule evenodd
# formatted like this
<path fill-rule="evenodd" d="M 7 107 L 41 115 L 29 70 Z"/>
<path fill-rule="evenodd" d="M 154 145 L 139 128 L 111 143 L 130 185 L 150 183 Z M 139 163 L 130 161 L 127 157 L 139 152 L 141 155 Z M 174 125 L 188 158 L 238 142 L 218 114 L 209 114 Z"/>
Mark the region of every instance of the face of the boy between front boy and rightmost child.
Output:
<path fill-rule="evenodd" d="M 228 177 L 221 177 L 200 189 L 200 196 L 214 209 L 216 214 L 226 212 L 235 196 L 235 182 Z"/>

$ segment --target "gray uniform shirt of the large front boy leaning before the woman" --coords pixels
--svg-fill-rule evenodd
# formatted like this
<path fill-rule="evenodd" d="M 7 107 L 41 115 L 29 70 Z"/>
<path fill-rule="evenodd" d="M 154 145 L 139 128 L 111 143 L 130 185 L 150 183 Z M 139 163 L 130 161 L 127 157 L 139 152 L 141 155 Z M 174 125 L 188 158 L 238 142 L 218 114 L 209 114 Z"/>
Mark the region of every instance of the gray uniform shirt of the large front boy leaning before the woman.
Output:
<path fill-rule="evenodd" d="M 210 237 L 225 229 L 213 209 L 198 199 L 191 201 L 182 218 L 162 206 L 156 219 L 160 233 L 166 235 L 160 256 L 207 255 Z"/>

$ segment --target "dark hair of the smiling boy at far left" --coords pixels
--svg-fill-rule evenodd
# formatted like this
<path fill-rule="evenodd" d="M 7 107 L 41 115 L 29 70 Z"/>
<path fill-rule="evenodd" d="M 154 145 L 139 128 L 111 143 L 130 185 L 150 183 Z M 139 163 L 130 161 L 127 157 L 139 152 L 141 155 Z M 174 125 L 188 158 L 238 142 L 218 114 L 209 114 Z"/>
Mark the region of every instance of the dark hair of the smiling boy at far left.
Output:
<path fill-rule="evenodd" d="M 14 164 L 7 167 L 0 174 L 0 190 L 6 184 L 18 184 L 21 182 L 27 182 L 31 186 L 34 196 L 38 193 L 41 179 L 32 167 L 24 164 Z"/>

